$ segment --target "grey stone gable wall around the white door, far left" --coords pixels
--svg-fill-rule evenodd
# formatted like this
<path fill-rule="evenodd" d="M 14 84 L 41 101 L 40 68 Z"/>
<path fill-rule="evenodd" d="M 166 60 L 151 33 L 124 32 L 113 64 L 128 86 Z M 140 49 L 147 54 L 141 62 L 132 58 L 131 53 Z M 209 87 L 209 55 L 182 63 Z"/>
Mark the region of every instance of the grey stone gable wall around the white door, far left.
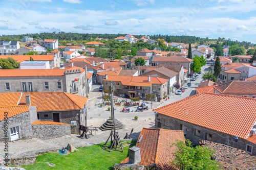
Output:
<path fill-rule="evenodd" d="M 19 139 L 26 139 L 33 137 L 32 122 L 37 121 L 36 107 L 30 106 L 29 111 L 8 118 L 8 138 L 10 137 L 10 128 L 18 127 Z M 4 122 L 0 122 L 0 128 L 4 129 Z M 4 133 L 0 133 L 0 139 L 4 139 Z"/>

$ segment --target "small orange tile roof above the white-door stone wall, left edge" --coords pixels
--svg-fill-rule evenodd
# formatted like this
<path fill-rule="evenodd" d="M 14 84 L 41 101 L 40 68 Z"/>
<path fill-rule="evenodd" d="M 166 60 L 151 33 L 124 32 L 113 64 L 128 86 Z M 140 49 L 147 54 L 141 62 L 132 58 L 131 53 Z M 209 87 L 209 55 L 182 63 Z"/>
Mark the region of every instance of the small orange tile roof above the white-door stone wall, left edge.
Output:
<path fill-rule="evenodd" d="M 12 117 L 21 113 L 25 113 L 29 111 L 29 105 L 24 106 L 6 106 L 0 107 L 0 121 L 4 120 L 5 117 Z M 7 116 L 5 116 L 5 112 L 7 112 Z"/>

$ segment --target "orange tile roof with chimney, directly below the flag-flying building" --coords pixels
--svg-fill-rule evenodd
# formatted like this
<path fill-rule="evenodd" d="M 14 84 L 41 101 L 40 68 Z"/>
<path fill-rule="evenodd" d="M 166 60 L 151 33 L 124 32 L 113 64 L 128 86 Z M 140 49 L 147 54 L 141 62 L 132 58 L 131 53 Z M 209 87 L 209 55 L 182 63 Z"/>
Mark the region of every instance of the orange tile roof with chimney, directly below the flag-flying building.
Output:
<path fill-rule="evenodd" d="M 25 95 L 30 95 L 36 111 L 80 110 L 88 98 L 67 92 L 0 93 L 1 106 L 25 105 Z"/>

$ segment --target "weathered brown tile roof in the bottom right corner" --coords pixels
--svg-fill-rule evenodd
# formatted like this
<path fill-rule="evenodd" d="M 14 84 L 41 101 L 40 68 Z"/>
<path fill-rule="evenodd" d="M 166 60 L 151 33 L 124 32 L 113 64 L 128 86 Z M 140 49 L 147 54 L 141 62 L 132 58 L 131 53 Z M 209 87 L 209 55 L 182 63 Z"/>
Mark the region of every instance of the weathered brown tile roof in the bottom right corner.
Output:
<path fill-rule="evenodd" d="M 215 160 L 221 164 L 221 169 L 256 169 L 256 157 L 243 150 L 208 140 L 199 140 L 199 144 L 216 151 Z"/>

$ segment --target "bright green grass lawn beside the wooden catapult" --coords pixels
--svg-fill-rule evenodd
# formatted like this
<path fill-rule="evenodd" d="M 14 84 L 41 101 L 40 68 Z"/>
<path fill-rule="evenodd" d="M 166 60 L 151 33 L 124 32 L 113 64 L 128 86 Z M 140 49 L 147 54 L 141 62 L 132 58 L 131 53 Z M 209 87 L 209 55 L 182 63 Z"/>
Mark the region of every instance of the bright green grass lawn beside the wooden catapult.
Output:
<path fill-rule="evenodd" d="M 136 144 L 136 141 L 127 141 L 133 143 L 130 147 L 123 148 L 123 153 L 119 151 L 108 152 L 103 150 L 104 143 L 91 145 L 88 147 L 77 148 L 78 152 L 68 155 L 59 155 L 59 153 L 47 153 L 36 157 L 36 163 L 32 165 L 22 165 L 21 167 L 29 169 L 112 169 L 116 163 L 120 163 L 129 154 L 129 148 Z M 125 144 L 124 144 L 125 145 Z M 56 164 L 52 167 L 43 162 Z"/>

